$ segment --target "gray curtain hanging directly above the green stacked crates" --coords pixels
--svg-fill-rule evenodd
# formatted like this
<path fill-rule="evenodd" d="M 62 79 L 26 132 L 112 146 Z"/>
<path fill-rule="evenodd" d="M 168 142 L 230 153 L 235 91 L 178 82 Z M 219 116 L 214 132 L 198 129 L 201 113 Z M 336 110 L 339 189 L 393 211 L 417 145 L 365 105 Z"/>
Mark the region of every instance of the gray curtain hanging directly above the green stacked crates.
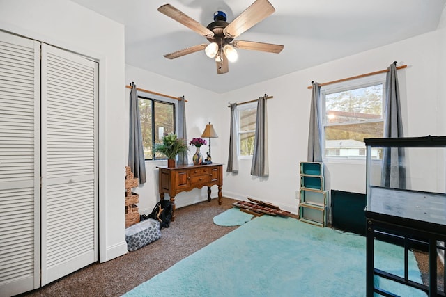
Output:
<path fill-rule="evenodd" d="M 312 81 L 312 106 L 309 113 L 307 161 L 322 162 L 322 138 L 319 105 L 321 104 L 321 87 Z"/>

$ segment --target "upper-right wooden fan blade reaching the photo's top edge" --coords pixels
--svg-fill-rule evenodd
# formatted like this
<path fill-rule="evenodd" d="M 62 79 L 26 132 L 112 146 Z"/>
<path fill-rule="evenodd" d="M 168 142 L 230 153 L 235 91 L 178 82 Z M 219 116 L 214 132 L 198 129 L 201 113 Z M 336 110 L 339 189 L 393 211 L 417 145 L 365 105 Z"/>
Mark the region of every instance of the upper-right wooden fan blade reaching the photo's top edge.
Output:
<path fill-rule="evenodd" d="M 272 15 L 276 10 L 268 0 L 256 0 L 243 13 L 241 13 L 231 24 L 224 28 L 226 38 L 236 38 L 255 24 Z"/>

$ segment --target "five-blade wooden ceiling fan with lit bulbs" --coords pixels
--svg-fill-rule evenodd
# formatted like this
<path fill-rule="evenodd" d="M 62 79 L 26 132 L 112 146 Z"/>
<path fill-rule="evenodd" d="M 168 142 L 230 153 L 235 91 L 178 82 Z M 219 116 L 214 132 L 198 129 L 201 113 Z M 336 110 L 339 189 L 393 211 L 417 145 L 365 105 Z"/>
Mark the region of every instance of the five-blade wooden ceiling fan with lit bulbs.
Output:
<path fill-rule="evenodd" d="M 254 1 L 251 6 L 231 23 L 226 22 L 226 14 L 223 11 L 217 11 L 214 13 L 214 22 L 208 24 L 206 27 L 170 4 L 160 6 L 158 11 L 175 19 L 180 24 L 187 26 L 192 31 L 203 35 L 210 42 L 208 45 L 203 43 L 174 51 L 173 53 L 165 54 L 164 57 L 174 59 L 204 49 L 209 58 L 215 59 L 217 63 L 217 74 L 229 72 L 228 61 L 233 62 L 237 60 L 237 51 L 234 47 L 253 51 L 266 51 L 275 54 L 279 54 L 284 48 L 283 45 L 274 45 L 272 43 L 234 40 L 238 35 L 275 12 L 275 8 L 272 7 L 268 0 Z"/>

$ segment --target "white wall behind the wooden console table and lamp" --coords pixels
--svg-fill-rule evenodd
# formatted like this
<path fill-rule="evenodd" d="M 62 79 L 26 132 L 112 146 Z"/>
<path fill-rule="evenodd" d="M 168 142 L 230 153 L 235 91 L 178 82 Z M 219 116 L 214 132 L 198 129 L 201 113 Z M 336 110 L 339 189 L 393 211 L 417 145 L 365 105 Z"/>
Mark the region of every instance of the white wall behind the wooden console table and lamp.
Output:
<path fill-rule="evenodd" d="M 167 61 L 167 63 L 169 63 L 169 61 Z M 181 97 L 184 95 L 187 100 L 185 109 L 188 142 L 190 142 L 192 138 L 200 137 L 208 122 L 213 124 L 213 127 L 219 136 L 220 134 L 223 134 L 222 130 L 224 129 L 224 126 L 221 123 L 220 114 L 222 113 L 222 110 L 225 110 L 226 106 L 224 106 L 222 100 L 218 99 L 216 93 L 197 88 L 188 83 L 168 79 L 131 65 L 125 65 L 125 81 L 127 81 L 127 84 L 133 81 L 136 83 L 137 88 L 151 90 L 156 93 L 174 97 Z M 125 96 L 125 111 L 128 111 L 130 89 L 127 89 Z M 126 113 L 125 117 L 125 129 L 128 138 L 128 113 Z M 219 149 L 222 145 L 222 139 L 213 138 L 211 142 L 214 163 L 222 163 L 222 151 Z M 190 145 L 189 148 L 189 162 L 192 163 L 192 155 L 195 152 L 195 147 Z M 203 145 L 200 148 L 200 151 L 203 156 L 206 156 L 208 145 Z M 149 214 L 156 202 L 160 200 L 160 195 L 158 193 L 158 169 L 156 166 L 161 165 L 167 165 L 167 161 L 146 161 L 147 182 L 144 185 L 140 185 L 138 188 L 134 188 L 134 192 L 139 194 L 138 207 L 141 214 Z M 211 189 L 211 197 L 216 198 L 218 191 L 217 186 L 213 186 Z M 169 195 L 166 195 L 166 198 L 168 199 Z M 175 197 L 175 204 L 176 207 L 184 207 L 185 205 L 207 200 L 207 198 L 207 187 L 203 187 L 201 189 L 194 189 L 190 192 L 179 193 Z M 180 218 L 177 217 L 176 219 L 178 220 Z"/>

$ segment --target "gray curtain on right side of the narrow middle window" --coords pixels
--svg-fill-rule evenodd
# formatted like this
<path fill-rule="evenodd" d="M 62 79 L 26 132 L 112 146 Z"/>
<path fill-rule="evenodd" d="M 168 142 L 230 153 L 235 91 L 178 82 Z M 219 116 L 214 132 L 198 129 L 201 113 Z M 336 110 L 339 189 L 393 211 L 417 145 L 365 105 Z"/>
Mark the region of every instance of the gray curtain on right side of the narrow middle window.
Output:
<path fill-rule="evenodd" d="M 257 102 L 256 132 L 254 134 L 254 154 L 251 175 L 268 177 L 268 121 L 266 117 L 266 95 Z"/>

